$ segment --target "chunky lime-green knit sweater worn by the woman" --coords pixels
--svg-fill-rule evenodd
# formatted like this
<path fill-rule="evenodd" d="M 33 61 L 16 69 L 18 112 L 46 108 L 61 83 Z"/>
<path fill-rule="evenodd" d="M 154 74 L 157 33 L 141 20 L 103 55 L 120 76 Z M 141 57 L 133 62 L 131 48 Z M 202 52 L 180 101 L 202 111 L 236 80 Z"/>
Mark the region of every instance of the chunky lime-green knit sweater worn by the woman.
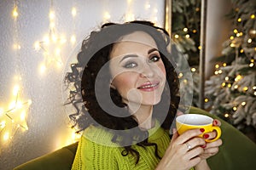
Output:
<path fill-rule="evenodd" d="M 124 148 L 111 142 L 112 133 L 100 127 L 88 127 L 79 140 L 79 146 L 73 161 L 72 170 L 154 170 L 159 159 L 154 156 L 154 146 L 133 145 L 140 154 L 136 164 L 136 156 L 129 154 L 122 156 Z M 170 143 L 168 133 L 160 127 L 159 123 L 148 130 L 148 142 L 158 145 L 158 153 L 162 157 Z"/>

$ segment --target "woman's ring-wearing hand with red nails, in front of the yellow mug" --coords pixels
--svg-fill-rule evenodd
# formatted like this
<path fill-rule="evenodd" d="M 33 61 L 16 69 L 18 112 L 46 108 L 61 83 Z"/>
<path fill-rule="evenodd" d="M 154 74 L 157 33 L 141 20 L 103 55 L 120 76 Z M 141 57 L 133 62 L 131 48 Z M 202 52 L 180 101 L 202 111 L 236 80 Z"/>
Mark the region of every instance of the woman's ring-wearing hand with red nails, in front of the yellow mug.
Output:
<path fill-rule="evenodd" d="M 174 129 L 171 143 L 156 169 L 188 170 L 200 163 L 205 151 L 201 146 L 206 145 L 206 142 L 197 136 L 203 131 L 204 129 L 192 129 L 178 135 Z"/>

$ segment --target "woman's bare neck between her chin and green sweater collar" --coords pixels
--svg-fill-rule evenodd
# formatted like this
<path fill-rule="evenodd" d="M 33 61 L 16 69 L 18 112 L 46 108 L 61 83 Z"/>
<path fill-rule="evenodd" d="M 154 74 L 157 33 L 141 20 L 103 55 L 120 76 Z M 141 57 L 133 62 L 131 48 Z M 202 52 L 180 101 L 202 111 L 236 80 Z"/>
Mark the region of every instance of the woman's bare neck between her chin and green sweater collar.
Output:
<path fill-rule="evenodd" d="M 153 105 L 137 105 L 129 106 L 129 111 L 136 117 L 138 126 L 143 130 L 148 130 L 154 127 L 152 120 Z"/>

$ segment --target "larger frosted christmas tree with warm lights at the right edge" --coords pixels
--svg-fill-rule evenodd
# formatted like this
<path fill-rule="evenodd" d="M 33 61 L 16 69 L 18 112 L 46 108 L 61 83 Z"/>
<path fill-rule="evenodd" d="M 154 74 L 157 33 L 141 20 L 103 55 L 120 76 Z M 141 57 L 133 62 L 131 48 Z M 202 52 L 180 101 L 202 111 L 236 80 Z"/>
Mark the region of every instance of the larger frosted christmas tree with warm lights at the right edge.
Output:
<path fill-rule="evenodd" d="M 244 133 L 256 129 L 256 1 L 231 0 L 230 38 L 206 82 L 207 107 Z"/>

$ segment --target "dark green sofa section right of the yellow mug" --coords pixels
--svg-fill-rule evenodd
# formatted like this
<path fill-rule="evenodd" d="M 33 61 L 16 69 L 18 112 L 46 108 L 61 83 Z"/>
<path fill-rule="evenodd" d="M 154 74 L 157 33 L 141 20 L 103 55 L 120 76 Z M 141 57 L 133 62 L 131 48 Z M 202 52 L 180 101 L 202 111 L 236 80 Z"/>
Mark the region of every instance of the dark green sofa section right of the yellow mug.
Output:
<path fill-rule="evenodd" d="M 256 144 L 243 133 L 207 111 L 191 107 L 189 113 L 211 116 L 221 122 L 223 145 L 218 154 L 210 157 L 207 162 L 212 170 L 241 170 L 256 168 Z"/>

